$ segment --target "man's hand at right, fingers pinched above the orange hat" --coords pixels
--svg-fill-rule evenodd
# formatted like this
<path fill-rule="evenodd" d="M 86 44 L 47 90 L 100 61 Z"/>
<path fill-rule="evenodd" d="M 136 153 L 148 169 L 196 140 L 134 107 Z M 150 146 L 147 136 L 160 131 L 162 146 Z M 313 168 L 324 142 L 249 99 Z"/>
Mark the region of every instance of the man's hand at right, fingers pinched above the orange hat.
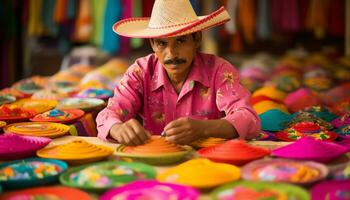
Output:
<path fill-rule="evenodd" d="M 205 137 L 206 124 L 203 120 L 182 117 L 174 120 L 164 127 L 166 139 L 177 144 L 190 144 Z"/>

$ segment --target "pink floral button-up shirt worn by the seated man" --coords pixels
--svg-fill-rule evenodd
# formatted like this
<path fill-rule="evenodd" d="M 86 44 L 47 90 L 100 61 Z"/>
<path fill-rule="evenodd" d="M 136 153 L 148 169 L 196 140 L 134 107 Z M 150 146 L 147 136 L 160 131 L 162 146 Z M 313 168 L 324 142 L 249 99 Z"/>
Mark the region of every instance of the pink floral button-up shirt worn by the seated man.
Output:
<path fill-rule="evenodd" d="M 98 137 L 106 139 L 115 123 L 138 114 L 143 126 L 160 134 L 169 122 L 184 116 L 226 119 L 240 138 L 257 136 L 260 121 L 252 109 L 249 92 L 239 83 L 238 71 L 226 60 L 197 53 L 192 69 L 177 94 L 155 54 L 136 60 L 129 67 L 114 97 L 97 116 Z"/>

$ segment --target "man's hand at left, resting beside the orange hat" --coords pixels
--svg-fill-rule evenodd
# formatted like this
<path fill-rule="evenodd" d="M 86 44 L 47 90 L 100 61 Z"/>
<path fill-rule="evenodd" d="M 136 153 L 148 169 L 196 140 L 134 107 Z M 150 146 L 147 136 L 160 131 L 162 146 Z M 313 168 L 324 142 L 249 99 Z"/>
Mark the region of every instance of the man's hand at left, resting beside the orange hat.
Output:
<path fill-rule="evenodd" d="M 151 134 L 136 119 L 130 119 L 122 124 L 114 124 L 109 134 L 124 145 L 141 145 L 151 137 Z"/>

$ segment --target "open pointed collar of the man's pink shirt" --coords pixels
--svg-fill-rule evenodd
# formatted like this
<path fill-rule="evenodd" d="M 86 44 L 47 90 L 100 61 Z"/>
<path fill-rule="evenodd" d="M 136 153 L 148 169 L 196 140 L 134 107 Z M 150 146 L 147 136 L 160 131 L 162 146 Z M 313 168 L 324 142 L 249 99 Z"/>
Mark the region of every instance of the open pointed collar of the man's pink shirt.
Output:
<path fill-rule="evenodd" d="M 201 83 L 205 87 L 209 87 L 209 77 L 207 68 L 210 66 L 205 65 L 204 56 L 201 53 L 197 53 L 194 62 L 192 64 L 191 71 L 188 74 L 188 77 L 185 83 L 190 83 L 193 81 Z M 168 85 L 170 86 L 170 81 L 162 64 L 156 59 L 155 70 L 152 76 L 152 91 L 158 89 L 161 86 Z"/>

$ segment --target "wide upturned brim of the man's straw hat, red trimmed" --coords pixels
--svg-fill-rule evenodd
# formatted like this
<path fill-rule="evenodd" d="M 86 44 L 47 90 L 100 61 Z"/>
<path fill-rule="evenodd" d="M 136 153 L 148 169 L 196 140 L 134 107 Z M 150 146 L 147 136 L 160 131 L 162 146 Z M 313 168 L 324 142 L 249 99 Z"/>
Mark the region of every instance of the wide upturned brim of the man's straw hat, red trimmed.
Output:
<path fill-rule="evenodd" d="M 186 35 L 205 30 L 230 20 L 224 7 L 219 8 L 210 15 L 200 16 L 197 20 L 168 27 L 149 28 L 150 18 L 128 18 L 113 25 L 113 31 L 119 35 L 133 38 L 159 38 Z"/>

